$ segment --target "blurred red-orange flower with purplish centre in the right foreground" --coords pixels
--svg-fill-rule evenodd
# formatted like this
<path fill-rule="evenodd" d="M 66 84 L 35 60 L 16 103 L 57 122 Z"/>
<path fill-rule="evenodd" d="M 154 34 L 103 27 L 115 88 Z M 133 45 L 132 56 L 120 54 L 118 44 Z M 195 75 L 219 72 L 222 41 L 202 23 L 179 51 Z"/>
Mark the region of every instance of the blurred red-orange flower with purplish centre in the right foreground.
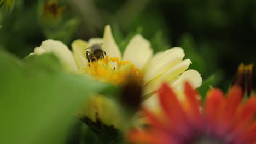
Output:
<path fill-rule="evenodd" d="M 132 130 L 135 143 L 256 143 L 256 97 L 242 101 L 242 89 L 234 86 L 228 95 L 219 89 L 207 94 L 201 106 L 197 93 L 185 83 L 185 100 L 179 101 L 166 84 L 159 89 L 162 117 L 143 109 L 150 126 Z"/>

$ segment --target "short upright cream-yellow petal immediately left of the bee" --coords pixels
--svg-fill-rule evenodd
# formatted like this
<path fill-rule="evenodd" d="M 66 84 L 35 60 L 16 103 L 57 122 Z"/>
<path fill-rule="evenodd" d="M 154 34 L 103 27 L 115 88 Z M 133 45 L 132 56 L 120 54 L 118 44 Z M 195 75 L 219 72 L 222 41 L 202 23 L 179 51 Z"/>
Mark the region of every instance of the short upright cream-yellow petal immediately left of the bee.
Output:
<path fill-rule="evenodd" d="M 78 68 L 84 68 L 87 64 L 86 48 L 88 44 L 84 40 L 75 40 L 71 44 L 74 53 L 75 62 L 77 62 Z"/>

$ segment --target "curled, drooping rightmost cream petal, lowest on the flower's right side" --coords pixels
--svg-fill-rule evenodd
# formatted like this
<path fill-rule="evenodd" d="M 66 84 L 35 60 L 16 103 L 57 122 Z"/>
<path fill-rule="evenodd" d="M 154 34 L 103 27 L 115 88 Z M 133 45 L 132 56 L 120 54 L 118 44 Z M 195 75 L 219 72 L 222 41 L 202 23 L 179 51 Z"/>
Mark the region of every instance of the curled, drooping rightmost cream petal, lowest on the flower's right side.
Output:
<path fill-rule="evenodd" d="M 193 88 L 200 87 L 202 85 L 201 74 L 194 69 L 187 70 L 177 80 L 170 82 L 169 85 L 176 91 L 182 91 L 185 82 L 189 82 Z"/>

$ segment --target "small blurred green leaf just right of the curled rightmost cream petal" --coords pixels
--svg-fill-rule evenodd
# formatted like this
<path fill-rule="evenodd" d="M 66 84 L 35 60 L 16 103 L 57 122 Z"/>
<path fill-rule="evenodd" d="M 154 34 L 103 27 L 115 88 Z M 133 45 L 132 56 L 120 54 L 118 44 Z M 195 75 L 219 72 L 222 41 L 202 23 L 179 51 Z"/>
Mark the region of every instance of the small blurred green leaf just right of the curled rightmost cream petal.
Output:
<path fill-rule="evenodd" d="M 208 77 L 206 80 L 203 81 L 202 86 L 197 88 L 197 91 L 199 91 L 202 101 L 205 100 L 206 93 L 209 91 L 209 89 L 214 86 L 216 83 L 215 76 L 212 75 Z"/>

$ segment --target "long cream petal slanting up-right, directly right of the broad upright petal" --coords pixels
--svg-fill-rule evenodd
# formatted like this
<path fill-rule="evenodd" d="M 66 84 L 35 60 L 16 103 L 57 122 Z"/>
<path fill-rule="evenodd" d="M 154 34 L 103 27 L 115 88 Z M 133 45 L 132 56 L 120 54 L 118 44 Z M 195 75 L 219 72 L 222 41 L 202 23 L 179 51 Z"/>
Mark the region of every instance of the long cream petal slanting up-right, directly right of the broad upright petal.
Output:
<path fill-rule="evenodd" d="M 164 74 L 167 70 L 182 61 L 185 56 L 182 48 L 174 47 L 156 54 L 144 71 L 144 83 L 148 83 L 155 77 Z"/>

